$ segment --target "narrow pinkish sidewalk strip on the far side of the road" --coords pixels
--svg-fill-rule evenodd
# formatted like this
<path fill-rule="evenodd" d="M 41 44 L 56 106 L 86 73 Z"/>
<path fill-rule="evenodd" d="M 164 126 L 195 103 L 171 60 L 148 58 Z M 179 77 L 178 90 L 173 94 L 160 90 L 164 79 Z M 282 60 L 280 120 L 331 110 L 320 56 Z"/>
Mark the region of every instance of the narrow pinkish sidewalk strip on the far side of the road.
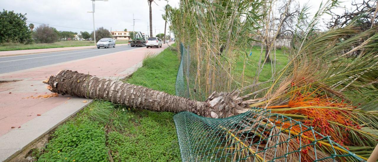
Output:
<path fill-rule="evenodd" d="M 127 44 L 116 44 L 116 46 L 123 46 L 123 45 L 127 45 Z M 0 51 L 0 57 L 29 55 L 29 54 L 36 54 L 36 53 L 59 52 L 59 51 L 82 50 L 82 49 L 89 49 L 89 48 L 96 48 L 96 46 L 90 45 L 90 46 L 80 46 L 80 47 L 61 47 L 61 48 L 43 48 L 43 49 L 34 49 L 34 50 Z"/>

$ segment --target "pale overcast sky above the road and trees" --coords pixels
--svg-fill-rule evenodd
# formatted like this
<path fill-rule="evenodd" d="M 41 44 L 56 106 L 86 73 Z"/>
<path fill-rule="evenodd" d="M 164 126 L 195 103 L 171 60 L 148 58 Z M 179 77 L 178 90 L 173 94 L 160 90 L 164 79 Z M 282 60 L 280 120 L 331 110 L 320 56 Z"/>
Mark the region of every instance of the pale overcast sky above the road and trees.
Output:
<path fill-rule="evenodd" d="M 362 0 L 356 0 L 357 2 Z M 179 0 L 169 0 L 173 7 L 178 6 Z M 311 11 L 315 12 L 321 0 L 299 0 L 301 5 L 309 3 Z M 165 0 L 156 0 L 152 4 L 152 32 L 154 35 L 164 33 L 164 20 L 161 18 Z M 341 6 L 350 8 L 351 0 L 345 0 Z M 0 8 L 13 10 L 17 13 L 27 14 L 28 21 L 34 26 L 46 23 L 54 26 L 59 31 L 88 31 L 93 29 L 91 0 L 0 0 Z M 339 9 L 343 12 L 343 9 Z M 96 28 L 103 26 L 112 31 L 133 30 L 133 14 L 135 19 L 135 31 L 147 32 L 149 22 L 149 6 L 147 0 L 108 0 L 107 2 L 96 1 L 95 22 Z M 39 23 L 35 23 L 39 22 Z M 30 23 L 30 22 L 28 22 Z M 74 28 L 66 28 L 68 26 Z M 85 29 L 77 29 L 85 28 Z M 156 33 L 155 33 L 156 28 Z M 148 32 L 149 33 L 149 32 Z"/>

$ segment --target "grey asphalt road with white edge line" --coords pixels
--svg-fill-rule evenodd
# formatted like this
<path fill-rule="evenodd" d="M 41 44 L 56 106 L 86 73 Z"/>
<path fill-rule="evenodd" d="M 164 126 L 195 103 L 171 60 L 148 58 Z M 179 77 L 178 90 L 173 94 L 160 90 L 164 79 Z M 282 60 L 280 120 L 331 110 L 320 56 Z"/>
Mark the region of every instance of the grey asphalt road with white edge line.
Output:
<path fill-rule="evenodd" d="M 22 56 L 0 57 L 0 74 L 31 69 L 45 65 L 90 58 L 119 51 L 131 50 L 140 47 L 118 46 L 116 48 L 91 48 L 85 50 L 61 51 L 52 53 L 39 53 Z"/>

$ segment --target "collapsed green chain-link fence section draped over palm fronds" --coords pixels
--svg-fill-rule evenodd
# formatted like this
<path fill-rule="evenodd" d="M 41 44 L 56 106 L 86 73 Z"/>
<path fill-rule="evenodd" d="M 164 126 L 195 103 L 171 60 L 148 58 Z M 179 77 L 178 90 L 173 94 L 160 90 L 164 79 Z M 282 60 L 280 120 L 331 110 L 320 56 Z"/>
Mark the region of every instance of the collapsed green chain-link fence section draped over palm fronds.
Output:
<path fill-rule="evenodd" d="M 330 137 L 290 117 L 252 108 L 229 118 L 174 116 L 187 161 L 363 161 Z"/>

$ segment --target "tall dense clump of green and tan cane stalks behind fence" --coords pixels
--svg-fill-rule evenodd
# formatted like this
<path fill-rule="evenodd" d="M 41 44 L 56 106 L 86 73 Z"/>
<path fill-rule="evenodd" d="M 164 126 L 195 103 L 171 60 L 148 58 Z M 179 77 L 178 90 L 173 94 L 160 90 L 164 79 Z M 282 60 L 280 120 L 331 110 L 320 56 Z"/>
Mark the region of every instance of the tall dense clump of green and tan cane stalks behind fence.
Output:
<path fill-rule="evenodd" d="M 197 94 L 206 96 L 214 90 L 230 91 L 244 84 L 245 78 L 239 78 L 240 74 L 235 75 L 234 72 L 235 60 L 243 58 L 235 55 L 239 52 L 235 49 L 246 48 L 251 43 L 250 28 L 254 25 L 246 23 L 250 21 L 247 17 L 260 21 L 257 16 L 259 14 L 253 16 L 245 13 L 261 12 L 262 4 L 262 0 L 254 3 L 231 0 L 201 2 L 199 5 L 189 0 L 181 0 L 181 10 L 172 9 L 169 14 L 172 32 L 179 37 L 178 42 L 184 41 L 184 44 L 193 45 L 194 48 L 191 49 L 196 50 L 191 52 L 196 54 L 193 58 L 197 58 L 197 75 L 191 87 L 196 87 Z M 181 12 L 183 13 L 180 14 Z M 229 14 L 222 14 L 223 12 Z M 244 66 L 248 65 L 248 60 L 243 62 L 245 62 Z M 248 67 L 244 67 L 246 68 Z"/>

